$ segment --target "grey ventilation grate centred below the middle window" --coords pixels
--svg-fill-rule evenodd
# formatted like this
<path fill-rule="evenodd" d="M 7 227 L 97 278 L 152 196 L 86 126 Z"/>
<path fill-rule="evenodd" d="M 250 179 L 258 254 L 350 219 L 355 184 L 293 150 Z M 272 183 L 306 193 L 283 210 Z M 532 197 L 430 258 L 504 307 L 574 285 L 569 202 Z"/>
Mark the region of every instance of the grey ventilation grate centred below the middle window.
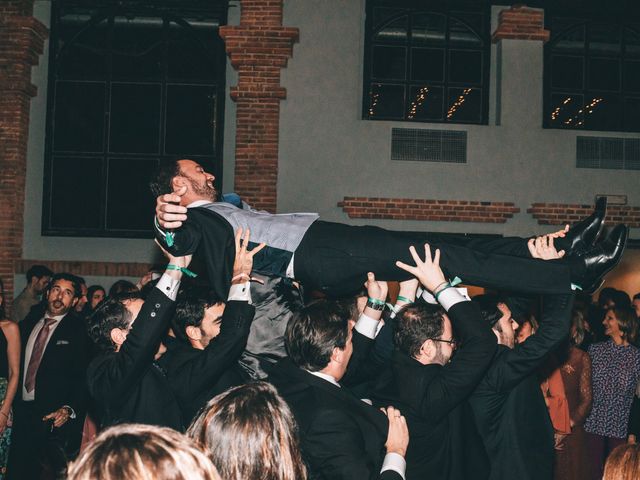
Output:
<path fill-rule="evenodd" d="M 394 128 L 391 160 L 467 163 L 467 132 Z"/>

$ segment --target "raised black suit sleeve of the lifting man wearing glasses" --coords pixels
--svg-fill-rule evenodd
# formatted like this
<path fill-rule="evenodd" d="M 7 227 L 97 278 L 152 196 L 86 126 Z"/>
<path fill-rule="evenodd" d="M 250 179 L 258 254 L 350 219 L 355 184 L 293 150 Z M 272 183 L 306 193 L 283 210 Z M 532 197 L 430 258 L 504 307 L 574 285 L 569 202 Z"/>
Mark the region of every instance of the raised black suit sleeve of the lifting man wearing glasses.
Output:
<path fill-rule="evenodd" d="M 432 382 L 426 385 L 420 415 L 439 419 L 467 398 L 484 376 L 496 350 L 496 336 L 482 321 L 476 304 L 463 301 L 447 312 L 461 347 Z"/>

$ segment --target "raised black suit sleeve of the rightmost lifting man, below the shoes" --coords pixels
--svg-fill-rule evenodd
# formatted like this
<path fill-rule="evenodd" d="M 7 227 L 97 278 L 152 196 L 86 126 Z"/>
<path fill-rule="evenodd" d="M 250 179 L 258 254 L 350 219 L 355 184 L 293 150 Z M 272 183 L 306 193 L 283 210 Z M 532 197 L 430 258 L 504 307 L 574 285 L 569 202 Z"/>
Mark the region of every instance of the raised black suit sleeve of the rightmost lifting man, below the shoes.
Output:
<path fill-rule="evenodd" d="M 511 390 L 529 376 L 569 332 L 572 295 L 545 295 L 540 328 L 525 342 L 503 355 L 492 368 L 492 381 L 498 390 Z"/>

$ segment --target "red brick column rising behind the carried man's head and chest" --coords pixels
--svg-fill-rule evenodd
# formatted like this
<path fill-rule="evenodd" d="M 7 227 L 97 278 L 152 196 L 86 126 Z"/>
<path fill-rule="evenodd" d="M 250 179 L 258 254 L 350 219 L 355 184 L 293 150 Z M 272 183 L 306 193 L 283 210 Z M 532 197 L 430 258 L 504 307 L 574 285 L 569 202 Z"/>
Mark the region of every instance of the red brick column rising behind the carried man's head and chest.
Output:
<path fill-rule="evenodd" d="M 277 207 L 280 69 L 298 40 L 297 28 L 282 26 L 282 0 L 241 0 L 240 25 L 220 27 L 238 85 L 235 190 L 249 204 L 271 212 Z"/>

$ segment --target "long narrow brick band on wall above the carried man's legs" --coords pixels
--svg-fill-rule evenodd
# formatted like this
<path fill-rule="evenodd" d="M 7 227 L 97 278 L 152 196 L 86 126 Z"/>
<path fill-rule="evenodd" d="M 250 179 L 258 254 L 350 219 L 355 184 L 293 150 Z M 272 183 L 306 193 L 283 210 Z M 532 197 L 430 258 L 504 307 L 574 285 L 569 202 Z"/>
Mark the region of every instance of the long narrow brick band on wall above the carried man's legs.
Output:
<path fill-rule="evenodd" d="M 344 197 L 338 206 L 349 218 L 432 222 L 505 223 L 520 211 L 510 202 Z"/>

